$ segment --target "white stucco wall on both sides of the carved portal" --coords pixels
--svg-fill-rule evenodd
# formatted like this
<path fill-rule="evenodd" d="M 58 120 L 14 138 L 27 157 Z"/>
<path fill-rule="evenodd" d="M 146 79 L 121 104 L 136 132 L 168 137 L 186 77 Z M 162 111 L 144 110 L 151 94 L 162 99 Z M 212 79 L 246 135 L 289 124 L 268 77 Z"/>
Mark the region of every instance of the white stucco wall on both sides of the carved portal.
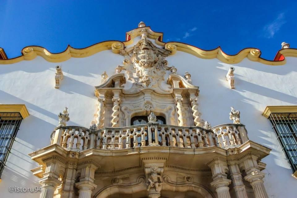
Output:
<path fill-rule="evenodd" d="M 297 179 L 282 152 L 268 119 L 261 114 L 268 105 L 296 105 L 297 58 L 286 58 L 284 66 L 268 66 L 244 59 L 235 67 L 235 89 L 230 89 L 225 75 L 231 65 L 217 59 L 200 59 L 177 52 L 167 57 L 179 75 L 188 71 L 194 85 L 200 87 L 202 119 L 212 126 L 232 123 L 230 106 L 241 112 L 241 122 L 246 125 L 251 140 L 271 149 L 262 161 L 265 186 L 269 197 L 294 197 Z M 109 76 L 121 64 L 123 56 L 111 50 L 87 58 L 71 58 L 61 63 L 51 63 L 41 57 L 11 65 L 0 65 L 0 103 L 25 104 L 30 116 L 21 123 L 11 154 L 2 174 L 0 192 L 3 197 L 39 197 L 39 193 L 10 193 L 9 187 L 39 186 L 30 169 L 37 163 L 28 156 L 49 144 L 49 136 L 58 125 L 57 114 L 65 106 L 69 109 L 68 125 L 88 127 L 96 112 L 97 99 L 94 86 L 100 84 L 101 74 Z M 54 67 L 62 65 L 64 80 L 60 89 L 54 88 Z M 280 190 L 286 189 L 286 190 Z"/>

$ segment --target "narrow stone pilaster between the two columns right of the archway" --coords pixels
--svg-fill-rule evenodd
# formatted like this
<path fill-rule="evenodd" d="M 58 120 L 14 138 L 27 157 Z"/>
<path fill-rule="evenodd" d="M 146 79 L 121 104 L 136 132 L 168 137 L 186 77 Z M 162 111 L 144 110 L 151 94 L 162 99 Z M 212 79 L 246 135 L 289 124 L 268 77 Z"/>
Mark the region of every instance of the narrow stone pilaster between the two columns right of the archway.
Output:
<path fill-rule="evenodd" d="M 238 164 L 236 161 L 228 161 L 228 165 L 236 198 L 248 198 Z"/>

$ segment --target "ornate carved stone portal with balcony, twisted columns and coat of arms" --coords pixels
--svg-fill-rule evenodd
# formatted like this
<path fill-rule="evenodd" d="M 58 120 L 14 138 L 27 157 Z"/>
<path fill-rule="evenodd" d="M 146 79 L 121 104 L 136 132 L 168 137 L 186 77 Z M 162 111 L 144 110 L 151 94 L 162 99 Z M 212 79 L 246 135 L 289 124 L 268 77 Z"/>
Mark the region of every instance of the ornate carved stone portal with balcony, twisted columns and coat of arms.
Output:
<path fill-rule="evenodd" d="M 157 47 L 152 34 L 141 22 L 130 32 L 140 37 L 134 46 L 112 45 L 123 65 L 95 87 L 91 127 L 66 126 L 65 108 L 50 145 L 30 153 L 41 165 L 33 170 L 40 197 L 268 197 L 260 160 L 270 149 L 248 139 L 233 107 L 233 124 L 202 120 L 199 87 L 168 66 L 174 46 Z M 233 72 L 226 77 L 234 88 Z M 148 119 L 132 125 L 134 117 Z"/>

